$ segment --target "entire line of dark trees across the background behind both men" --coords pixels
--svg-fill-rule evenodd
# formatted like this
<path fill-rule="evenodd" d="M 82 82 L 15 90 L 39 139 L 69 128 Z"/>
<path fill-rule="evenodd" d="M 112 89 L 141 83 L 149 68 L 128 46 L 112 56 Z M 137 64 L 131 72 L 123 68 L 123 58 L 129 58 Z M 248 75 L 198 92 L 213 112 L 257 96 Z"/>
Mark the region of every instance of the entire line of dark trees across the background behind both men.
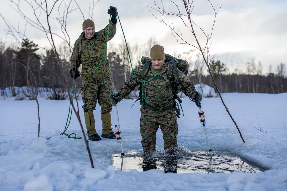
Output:
<path fill-rule="evenodd" d="M 131 71 L 141 64 L 141 56 L 149 56 L 150 47 L 157 44 L 155 39 L 149 39 L 143 45 L 128 46 L 123 42 L 118 46 L 109 47 L 108 60 L 112 69 L 110 84 L 116 92 L 131 75 Z M 1 95 L 7 94 L 9 88 L 12 96 L 16 99 L 35 99 L 35 80 L 32 74 L 19 63 L 30 68 L 36 77 L 38 87 L 42 87 L 49 99 L 67 99 L 67 90 L 65 88 L 64 76 L 67 75 L 70 84 L 73 80 L 70 77 L 70 49 L 69 47 L 60 47 L 58 54 L 63 64 L 63 74 L 61 72 L 59 60 L 55 52 L 46 50 L 42 55 L 38 53 L 39 47 L 28 39 L 23 39 L 20 47 L 7 47 L 0 44 L 0 75 Z M 211 75 L 200 56 L 195 61 L 190 62 L 191 52 L 174 52 L 173 56 L 182 58 L 189 62 L 188 78 L 193 84 L 203 83 L 214 87 Z M 134 63 L 131 65 L 131 63 Z M 248 92 L 248 93 L 282 93 L 287 92 L 286 65 L 278 64 L 276 72 L 270 72 L 262 75 L 261 63 L 255 63 L 254 59 L 244 63 L 246 71 L 234 70 L 228 72 L 228 68 L 220 60 L 212 60 L 210 70 L 216 80 L 220 92 Z M 76 79 L 77 87 L 81 86 L 81 78 Z M 15 87 L 21 87 L 19 88 Z M 25 89 L 22 87 L 26 87 Z M 79 88 L 76 89 L 76 96 L 79 95 Z M 135 94 L 135 92 L 132 92 Z"/>

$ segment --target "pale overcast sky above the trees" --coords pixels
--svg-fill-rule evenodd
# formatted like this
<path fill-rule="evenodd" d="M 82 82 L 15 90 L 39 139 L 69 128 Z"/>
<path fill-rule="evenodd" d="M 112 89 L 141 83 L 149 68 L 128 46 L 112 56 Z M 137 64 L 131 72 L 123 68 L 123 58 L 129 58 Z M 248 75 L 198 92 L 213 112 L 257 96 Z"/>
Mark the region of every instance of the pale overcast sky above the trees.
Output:
<path fill-rule="evenodd" d="M 45 34 L 30 25 L 26 25 L 24 20 L 20 17 L 18 11 L 15 11 L 15 4 L 10 0 L 1 3 L 0 13 L 0 40 L 6 45 L 15 42 L 11 35 L 7 35 L 7 24 L 9 22 L 16 29 L 22 31 L 33 42 L 39 46 L 49 46 Z M 18 2 L 18 0 L 12 0 Z M 20 9 L 29 18 L 35 18 L 31 7 L 25 3 L 20 3 Z M 34 0 L 30 0 L 31 2 Z M 38 0 L 36 0 L 39 2 Z M 162 0 L 164 9 L 176 11 L 176 7 L 168 0 Z M 269 70 L 269 65 L 272 64 L 271 72 L 276 72 L 276 67 L 280 63 L 287 64 L 287 1 L 286 0 L 210 0 L 214 9 L 218 11 L 216 15 L 215 25 L 212 33 L 212 44 L 210 46 L 210 54 L 214 54 L 215 60 L 221 60 L 228 67 L 242 67 L 242 64 L 255 59 L 255 62 L 263 64 L 263 72 Z M 51 1 L 53 2 L 53 1 Z M 65 1 L 66 3 L 70 1 Z M 158 15 L 157 12 L 150 8 L 155 7 L 153 0 L 139 1 L 139 0 L 100 0 L 95 6 L 94 10 L 90 10 L 92 18 L 89 17 L 89 7 L 92 0 L 77 1 L 81 11 L 75 10 L 68 15 L 67 29 L 71 44 L 75 42 L 79 34 L 82 32 L 82 23 L 84 19 L 93 19 L 95 22 L 95 30 L 98 31 L 104 28 L 109 19 L 107 14 L 109 6 L 117 7 L 119 18 L 125 33 L 126 40 L 131 44 L 143 44 L 151 37 L 154 37 L 158 44 L 164 46 L 165 52 L 172 54 L 174 51 L 188 51 L 194 49 L 192 46 L 179 44 L 177 40 L 170 35 L 171 31 L 168 26 L 160 23 L 153 15 Z M 95 0 L 96 2 L 96 0 Z M 158 2 L 161 6 L 160 1 Z M 182 1 L 175 0 L 179 5 L 181 13 Z M 56 6 L 60 5 L 60 1 Z M 62 4 L 63 5 L 63 4 Z M 72 1 L 74 8 L 77 6 Z M 208 3 L 204 0 L 194 0 L 194 9 L 192 18 L 195 23 L 200 26 L 207 34 L 211 34 L 212 23 L 214 20 L 214 11 Z M 49 6 L 49 5 L 48 5 Z M 14 7 L 14 9 L 12 8 Z M 221 7 L 221 8 L 220 8 Z M 36 11 L 39 11 L 37 9 Z M 152 13 L 151 13 L 152 12 Z M 38 12 L 37 12 L 38 13 Z M 58 9 L 55 9 L 51 15 L 58 17 Z M 53 16 L 54 17 L 54 16 Z M 160 18 L 160 17 L 158 17 Z M 45 17 L 41 18 L 45 23 Z M 35 20 L 35 19 L 34 19 Z M 164 21 L 175 28 L 186 31 L 182 21 L 177 17 L 165 16 Z M 52 22 L 52 30 L 61 34 L 61 28 Z M 205 44 L 202 33 L 196 31 L 200 43 Z M 117 44 L 122 41 L 123 33 L 121 26 L 117 24 L 117 34 L 113 38 L 113 43 Z M 196 45 L 191 33 L 185 32 L 184 38 L 190 44 Z M 19 37 L 19 39 L 21 39 Z M 20 40 L 21 41 L 21 40 Z M 210 42 L 211 42 L 210 41 Z M 58 43 L 57 41 L 56 43 Z M 241 64 L 241 65 L 240 65 Z"/>

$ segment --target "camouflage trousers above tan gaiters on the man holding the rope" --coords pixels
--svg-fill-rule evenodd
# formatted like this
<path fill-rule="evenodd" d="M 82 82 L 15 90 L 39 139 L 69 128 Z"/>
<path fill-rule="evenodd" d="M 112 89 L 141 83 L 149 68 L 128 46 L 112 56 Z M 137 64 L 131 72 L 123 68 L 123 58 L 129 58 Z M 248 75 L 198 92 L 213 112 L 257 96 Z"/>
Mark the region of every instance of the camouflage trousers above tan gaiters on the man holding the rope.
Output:
<path fill-rule="evenodd" d="M 97 100 L 101 106 L 101 113 L 110 113 L 112 104 L 110 103 L 110 95 L 113 94 L 110 86 L 109 77 L 83 82 L 81 86 L 81 94 L 84 102 L 84 110 L 96 110 Z"/>

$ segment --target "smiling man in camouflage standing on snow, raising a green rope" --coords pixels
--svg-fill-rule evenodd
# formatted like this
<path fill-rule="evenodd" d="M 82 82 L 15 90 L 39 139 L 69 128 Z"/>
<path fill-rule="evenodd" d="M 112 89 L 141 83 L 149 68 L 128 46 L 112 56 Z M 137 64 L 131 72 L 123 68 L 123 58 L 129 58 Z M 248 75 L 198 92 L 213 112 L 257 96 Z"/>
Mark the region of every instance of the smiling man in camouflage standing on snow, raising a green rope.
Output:
<path fill-rule="evenodd" d="M 82 76 L 81 94 L 84 102 L 85 124 L 89 139 L 92 141 L 99 141 L 101 137 L 116 138 L 111 128 L 112 105 L 109 96 L 113 91 L 109 81 L 111 68 L 106 56 L 107 40 L 111 40 L 116 34 L 117 11 L 115 7 L 110 7 L 108 14 L 111 15 L 108 25 L 98 32 L 95 32 L 95 23 L 92 20 L 87 19 L 83 22 L 83 32 L 75 41 L 70 60 L 71 77 Z M 81 73 L 78 71 L 80 65 L 82 65 Z M 97 101 L 101 106 L 101 137 L 96 131 L 93 113 L 93 110 L 96 110 Z"/>

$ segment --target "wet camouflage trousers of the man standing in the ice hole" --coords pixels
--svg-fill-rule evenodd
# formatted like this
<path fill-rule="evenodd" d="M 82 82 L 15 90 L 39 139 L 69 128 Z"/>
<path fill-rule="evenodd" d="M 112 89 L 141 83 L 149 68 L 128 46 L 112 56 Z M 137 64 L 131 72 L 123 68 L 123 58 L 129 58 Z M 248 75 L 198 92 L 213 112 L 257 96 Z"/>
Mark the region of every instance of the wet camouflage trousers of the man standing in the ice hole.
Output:
<path fill-rule="evenodd" d="M 164 140 L 164 149 L 178 147 L 177 116 L 174 109 L 167 111 L 152 111 L 141 107 L 140 133 L 144 152 L 156 151 L 156 131 L 160 127 Z"/>

